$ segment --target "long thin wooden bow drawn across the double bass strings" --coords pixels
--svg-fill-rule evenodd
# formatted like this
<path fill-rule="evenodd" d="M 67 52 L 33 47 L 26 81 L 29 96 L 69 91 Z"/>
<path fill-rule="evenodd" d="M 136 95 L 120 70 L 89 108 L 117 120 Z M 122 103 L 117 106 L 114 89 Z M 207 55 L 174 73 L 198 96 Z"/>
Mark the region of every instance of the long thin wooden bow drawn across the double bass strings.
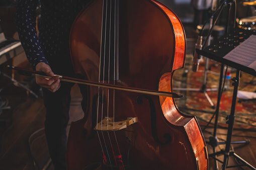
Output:
<path fill-rule="evenodd" d="M 15 67 L 15 66 L 7 66 L 10 69 L 17 70 L 19 74 L 26 75 L 26 76 L 37 76 L 37 77 L 43 77 L 43 78 L 51 78 L 50 76 L 47 76 L 44 72 L 40 71 L 34 71 L 29 69 L 24 69 L 21 67 Z M 165 97 L 173 97 L 173 98 L 181 98 L 183 95 L 173 93 L 173 92 L 165 92 L 165 91 L 156 91 L 156 90 L 145 90 L 145 89 L 138 89 L 133 87 L 124 87 L 124 86 L 118 86 L 113 84 L 105 84 L 105 83 L 99 83 L 99 82 L 93 82 L 88 80 L 82 80 L 72 77 L 66 77 L 61 75 L 54 75 L 59 76 L 61 81 L 71 82 L 71 83 L 78 83 L 78 84 L 86 84 L 91 86 L 98 86 L 98 87 L 104 87 L 104 88 L 110 88 L 110 89 L 117 89 L 117 90 L 123 90 L 123 91 L 130 91 L 130 92 L 137 92 L 137 93 L 143 93 L 143 94 L 151 94 L 151 95 L 157 95 L 157 96 L 165 96 Z"/>

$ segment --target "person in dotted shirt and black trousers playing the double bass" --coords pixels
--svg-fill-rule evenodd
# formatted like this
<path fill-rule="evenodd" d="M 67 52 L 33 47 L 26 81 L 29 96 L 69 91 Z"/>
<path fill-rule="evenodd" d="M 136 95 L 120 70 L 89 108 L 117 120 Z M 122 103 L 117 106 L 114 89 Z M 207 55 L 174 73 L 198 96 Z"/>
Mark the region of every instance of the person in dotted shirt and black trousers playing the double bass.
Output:
<path fill-rule="evenodd" d="M 62 74 L 73 77 L 69 52 L 72 23 L 88 0 L 41 0 L 41 17 L 36 31 L 38 0 L 18 0 L 16 23 L 20 41 L 34 70 L 43 71 L 50 79 L 36 77 L 43 87 L 46 107 L 45 135 L 55 169 L 65 169 L 66 126 L 69 120 L 70 90 L 73 84 L 60 83 Z M 80 87 L 82 95 L 86 88 Z M 86 101 L 82 100 L 85 110 Z"/>

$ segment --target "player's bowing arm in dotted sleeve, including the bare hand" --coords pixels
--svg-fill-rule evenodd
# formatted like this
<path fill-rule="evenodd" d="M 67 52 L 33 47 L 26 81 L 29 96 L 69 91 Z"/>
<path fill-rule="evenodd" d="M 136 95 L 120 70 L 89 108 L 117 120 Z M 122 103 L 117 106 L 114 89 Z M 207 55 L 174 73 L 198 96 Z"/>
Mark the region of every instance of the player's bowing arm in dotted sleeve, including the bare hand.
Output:
<path fill-rule="evenodd" d="M 34 70 L 43 71 L 48 76 L 53 76 L 50 66 L 44 57 L 36 31 L 36 7 L 38 0 L 18 0 L 16 12 L 16 25 L 21 44 L 27 58 Z M 50 79 L 36 78 L 36 83 L 55 92 L 60 87 L 59 76 Z"/>

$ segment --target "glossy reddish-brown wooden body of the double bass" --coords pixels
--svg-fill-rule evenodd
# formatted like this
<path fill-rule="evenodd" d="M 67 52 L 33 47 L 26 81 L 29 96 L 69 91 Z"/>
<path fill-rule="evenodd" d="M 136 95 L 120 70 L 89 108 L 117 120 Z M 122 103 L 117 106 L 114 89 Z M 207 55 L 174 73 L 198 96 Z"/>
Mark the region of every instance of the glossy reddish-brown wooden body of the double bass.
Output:
<path fill-rule="evenodd" d="M 112 1 L 91 1 L 74 21 L 70 53 L 75 72 L 90 81 L 172 92 L 173 73 L 184 67 L 186 52 L 179 18 L 156 1 Z M 116 10 L 108 12 L 107 6 Z M 115 21 L 106 19 L 110 14 Z M 67 169 L 208 169 L 199 124 L 179 111 L 174 98 L 87 88 L 84 117 L 69 130 Z M 96 131 L 105 117 L 137 117 L 138 122 Z"/>

